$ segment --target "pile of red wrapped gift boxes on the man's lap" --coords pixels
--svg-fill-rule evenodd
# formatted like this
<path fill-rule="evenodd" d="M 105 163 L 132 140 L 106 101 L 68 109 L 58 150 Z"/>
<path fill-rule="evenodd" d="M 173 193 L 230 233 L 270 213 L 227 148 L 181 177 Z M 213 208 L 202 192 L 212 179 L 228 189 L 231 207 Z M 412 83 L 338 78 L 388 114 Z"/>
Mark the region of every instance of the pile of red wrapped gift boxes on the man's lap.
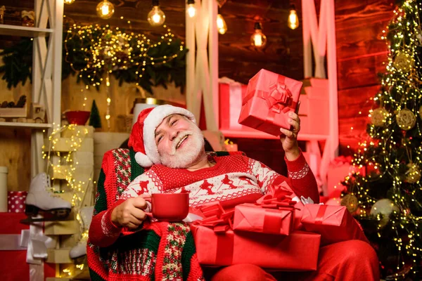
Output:
<path fill-rule="evenodd" d="M 254 204 L 240 204 L 234 210 L 224 210 L 219 202 L 200 208 L 203 220 L 191 224 L 200 264 L 316 270 L 321 246 L 368 242 L 346 207 L 292 200 L 286 182 L 270 190 Z"/>

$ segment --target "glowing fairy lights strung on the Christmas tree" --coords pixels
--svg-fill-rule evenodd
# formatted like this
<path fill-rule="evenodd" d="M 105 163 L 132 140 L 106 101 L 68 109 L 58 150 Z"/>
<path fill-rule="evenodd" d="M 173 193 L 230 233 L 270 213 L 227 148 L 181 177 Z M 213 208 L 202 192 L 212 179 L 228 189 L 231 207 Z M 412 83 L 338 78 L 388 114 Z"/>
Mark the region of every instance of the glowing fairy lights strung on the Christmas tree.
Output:
<path fill-rule="evenodd" d="M 376 107 L 381 107 L 369 110 L 368 117 L 372 118 L 367 128 L 370 139 L 358 144 L 352 159 L 354 166 L 366 167 L 366 174 L 353 174 L 346 181 L 347 192 L 356 196 L 359 202 L 358 216 L 374 218 L 378 223 L 378 237 L 382 237 L 385 227 L 390 227 L 392 232 L 396 233 L 392 240 L 399 251 L 398 256 L 403 259 L 399 260 L 394 270 L 401 270 L 404 259 L 408 259 L 413 261 L 409 274 L 416 274 L 416 270 L 420 270 L 418 264 L 421 263 L 422 256 L 422 216 L 411 211 L 411 205 L 422 207 L 422 132 L 418 129 L 422 118 L 419 112 L 422 98 L 422 67 L 416 59 L 420 56 L 418 50 L 422 46 L 419 18 L 422 3 L 419 2 L 404 1 L 402 7 L 394 11 L 390 28 L 383 30 L 381 39 L 385 40 L 390 52 L 381 80 L 382 91 L 372 99 Z M 403 129 L 397 129 L 397 114 L 404 109 L 410 110 L 417 117 L 416 124 L 402 124 Z M 362 112 L 359 112 L 359 115 L 362 115 Z M 375 115 L 378 115 L 380 122 L 373 122 Z M 409 126 L 411 133 L 404 131 L 408 130 Z M 377 214 L 371 217 L 368 210 L 379 199 L 371 197 L 369 190 L 374 183 L 385 177 L 391 179 L 386 188 L 392 191 L 390 200 L 394 207 L 390 215 L 390 224 L 387 226 L 385 215 Z M 403 239 L 404 237 L 406 239 Z M 403 279 L 404 275 L 395 273 L 393 277 L 399 280 Z"/>

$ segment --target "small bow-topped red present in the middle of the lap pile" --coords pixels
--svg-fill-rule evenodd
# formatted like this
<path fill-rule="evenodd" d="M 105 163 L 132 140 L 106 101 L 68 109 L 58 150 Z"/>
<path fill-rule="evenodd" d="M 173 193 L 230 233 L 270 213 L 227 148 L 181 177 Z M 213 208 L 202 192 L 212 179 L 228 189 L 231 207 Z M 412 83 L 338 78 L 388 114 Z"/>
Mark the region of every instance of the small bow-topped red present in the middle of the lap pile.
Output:
<path fill-rule="evenodd" d="M 289 235 L 293 228 L 294 205 L 290 200 L 293 192 L 284 181 L 270 185 L 269 192 L 257 204 L 241 204 L 234 209 L 234 230 L 255 233 Z"/>

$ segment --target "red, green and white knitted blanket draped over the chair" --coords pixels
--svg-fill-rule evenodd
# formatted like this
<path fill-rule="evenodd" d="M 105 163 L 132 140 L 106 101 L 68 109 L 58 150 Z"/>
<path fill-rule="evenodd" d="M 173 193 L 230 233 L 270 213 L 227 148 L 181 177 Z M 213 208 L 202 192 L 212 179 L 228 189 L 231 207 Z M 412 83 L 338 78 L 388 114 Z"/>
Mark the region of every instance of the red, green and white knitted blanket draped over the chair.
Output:
<path fill-rule="evenodd" d="M 121 148 L 104 155 L 94 216 L 113 206 L 127 185 L 143 173 L 134 155 L 133 150 Z M 88 239 L 87 256 L 94 281 L 205 280 L 186 223 L 146 224 L 139 232 L 120 236 L 110 247 L 97 247 Z"/>

